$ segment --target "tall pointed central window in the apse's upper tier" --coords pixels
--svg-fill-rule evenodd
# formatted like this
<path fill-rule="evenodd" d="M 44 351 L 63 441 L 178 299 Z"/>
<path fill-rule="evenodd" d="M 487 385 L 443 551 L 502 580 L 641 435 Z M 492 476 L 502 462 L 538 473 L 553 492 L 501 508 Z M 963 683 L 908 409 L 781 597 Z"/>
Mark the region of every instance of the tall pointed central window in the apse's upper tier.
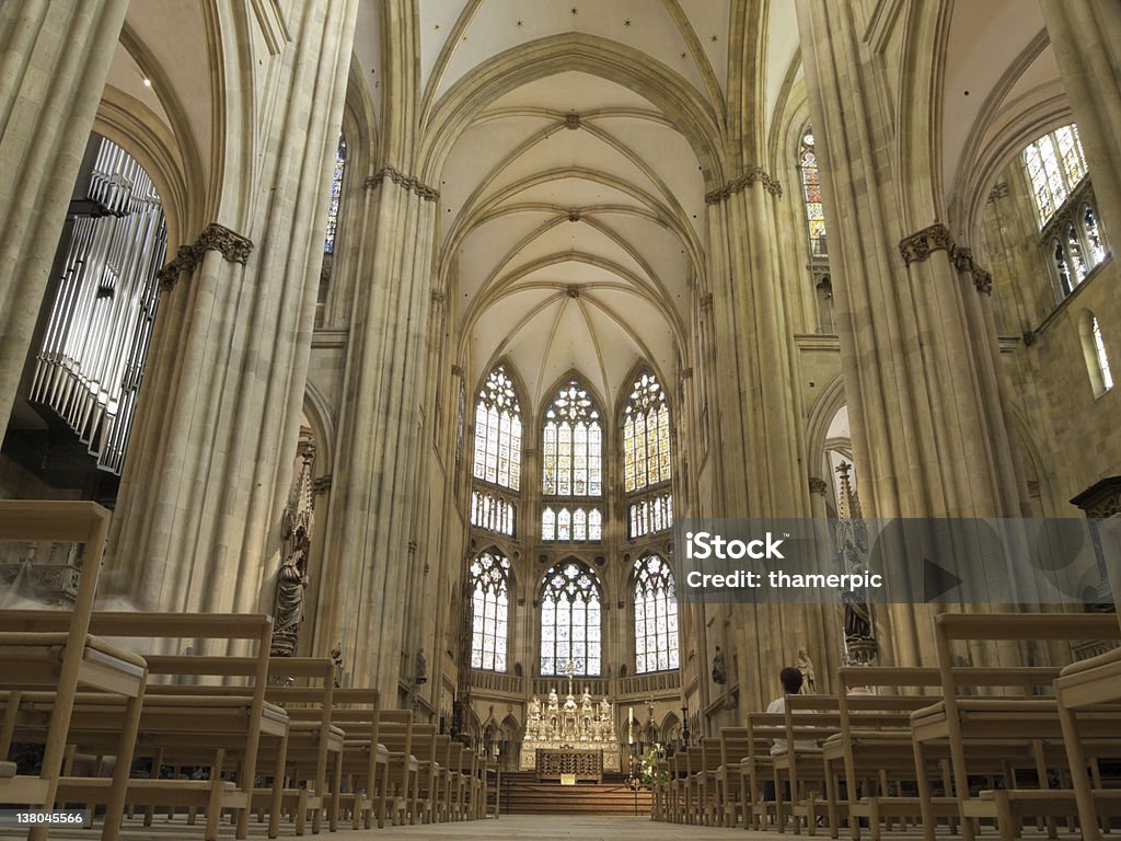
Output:
<path fill-rule="evenodd" d="M 580 382 L 572 380 L 557 392 L 545 413 L 544 432 L 541 490 L 555 497 L 602 496 L 600 410 Z"/>

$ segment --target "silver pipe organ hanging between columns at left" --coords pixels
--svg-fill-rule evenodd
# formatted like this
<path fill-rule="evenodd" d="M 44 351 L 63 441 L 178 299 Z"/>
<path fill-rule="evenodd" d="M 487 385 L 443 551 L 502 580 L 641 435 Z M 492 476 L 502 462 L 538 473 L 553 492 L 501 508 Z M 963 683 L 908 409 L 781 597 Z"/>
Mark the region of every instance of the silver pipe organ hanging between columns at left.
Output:
<path fill-rule="evenodd" d="M 148 174 L 110 140 L 95 142 L 86 195 L 71 204 L 70 241 L 59 244 L 58 293 L 30 399 L 65 420 L 99 468 L 120 474 L 159 303 L 156 272 L 167 230 Z"/>

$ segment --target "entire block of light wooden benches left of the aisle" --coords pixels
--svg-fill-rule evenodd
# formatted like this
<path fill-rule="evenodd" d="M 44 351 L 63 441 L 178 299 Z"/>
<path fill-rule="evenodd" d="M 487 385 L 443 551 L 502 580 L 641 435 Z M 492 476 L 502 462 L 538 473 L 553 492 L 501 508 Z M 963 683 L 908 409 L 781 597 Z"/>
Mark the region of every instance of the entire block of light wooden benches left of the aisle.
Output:
<path fill-rule="evenodd" d="M 109 841 L 137 810 L 145 825 L 157 808 L 191 824 L 202 810 L 206 841 L 224 813 L 239 839 L 253 812 L 269 838 L 285 816 L 296 834 L 344 816 L 355 829 L 479 819 L 491 800 L 498 816 L 494 763 L 380 709 L 377 690 L 335 687 L 330 659 L 270 657 L 268 617 L 93 611 L 106 519 L 87 502 L 0 502 L 0 539 L 86 544 L 73 611 L 0 610 L 0 757 L 43 746 L 38 774 L 0 761 L 0 804 L 103 806 Z M 82 755 L 95 757 L 85 775 Z M 130 773 L 143 760 L 146 776 Z"/>

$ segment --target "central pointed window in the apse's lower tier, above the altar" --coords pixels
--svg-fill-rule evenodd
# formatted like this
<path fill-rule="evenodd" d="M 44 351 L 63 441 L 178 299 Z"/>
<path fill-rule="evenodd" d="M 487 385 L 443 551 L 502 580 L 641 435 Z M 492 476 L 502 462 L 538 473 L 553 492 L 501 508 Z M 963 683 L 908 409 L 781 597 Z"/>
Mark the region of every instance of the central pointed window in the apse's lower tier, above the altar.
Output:
<path fill-rule="evenodd" d="M 602 594 L 595 573 L 578 561 L 563 561 L 541 586 L 541 674 L 599 675 L 602 663 L 600 610 Z"/>

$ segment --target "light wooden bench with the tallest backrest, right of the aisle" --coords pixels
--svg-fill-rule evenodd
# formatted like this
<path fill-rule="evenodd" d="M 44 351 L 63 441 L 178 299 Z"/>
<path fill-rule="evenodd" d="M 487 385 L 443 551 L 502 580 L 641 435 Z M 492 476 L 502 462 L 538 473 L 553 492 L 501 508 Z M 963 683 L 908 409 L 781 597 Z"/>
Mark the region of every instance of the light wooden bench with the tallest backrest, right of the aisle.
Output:
<path fill-rule="evenodd" d="M 1047 788 L 1043 741 L 1050 739 L 1057 742 L 1063 738 L 1056 701 L 1053 697 L 1034 696 L 960 697 L 956 690 L 963 682 L 960 674 L 955 676 L 952 644 L 955 640 L 1117 639 L 1121 637 L 1117 619 L 1112 616 L 1071 613 L 946 613 L 937 617 L 935 629 L 944 700 L 911 717 L 916 765 L 921 771 L 924 764 L 920 763 L 920 751 L 925 742 L 948 742 L 964 841 L 972 840 L 972 820 L 975 819 L 993 820 L 1000 828 L 1002 838 L 1015 838 L 1025 816 L 1038 815 L 1048 820 L 1056 816 L 1073 817 L 1076 814 L 1074 791 Z M 1026 668 L 1023 672 L 1021 686 L 1026 695 L 1030 687 L 1039 686 L 1040 683 L 1049 685 L 1058 676 L 1057 671 L 1050 669 Z M 1119 721 L 1121 719 L 1113 714 L 1084 721 L 1083 736 L 1117 739 L 1121 736 Z M 983 789 L 976 797 L 972 796 L 969 788 L 967 743 L 971 740 L 1015 742 L 1023 739 L 1030 739 L 1037 746 L 1040 787 Z M 1103 793 L 1102 797 L 1096 798 L 1095 811 L 1112 813 L 1118 804 L 1121 804 L 1121 793 L 1110 793 L 1109 796 Z M 933 838 L 933 825 L 926 820 L 924 823 L 927 824 L 927 838 Z M 1084 831 L 1088 829 L 1084 828 Z"/>

